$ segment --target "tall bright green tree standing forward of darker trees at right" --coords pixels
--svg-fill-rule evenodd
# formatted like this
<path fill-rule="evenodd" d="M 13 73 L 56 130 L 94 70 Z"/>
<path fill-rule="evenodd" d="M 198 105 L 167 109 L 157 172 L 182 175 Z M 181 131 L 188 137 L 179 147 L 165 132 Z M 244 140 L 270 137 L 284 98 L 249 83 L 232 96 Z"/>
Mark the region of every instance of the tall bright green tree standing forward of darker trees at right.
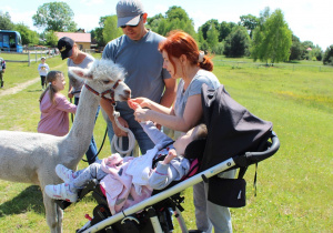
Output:
<path fill-rule="evenodd" d="M 283 13 L 276 9 L 271 16 L 265 9 L 261 23 L 253 31 L 251 57 L 269 63 L 287 61 L 292 45 L 292 31 L 284 21 Z"/>

